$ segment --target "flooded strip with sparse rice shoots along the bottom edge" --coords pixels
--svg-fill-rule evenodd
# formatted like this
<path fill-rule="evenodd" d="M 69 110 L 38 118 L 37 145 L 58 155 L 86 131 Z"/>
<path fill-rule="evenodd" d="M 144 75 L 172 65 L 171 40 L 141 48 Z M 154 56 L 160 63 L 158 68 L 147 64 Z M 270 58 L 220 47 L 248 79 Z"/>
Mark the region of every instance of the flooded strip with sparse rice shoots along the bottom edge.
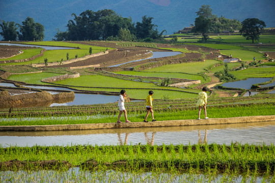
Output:
<path fill-rule="evenodd" d="M 2 175 L 4 174 L 4 175 Z M 154 172 L 121 172 L 83 171 L 78 167 L 67 171 L 6 171 L 0 173 L 0 181 L 18 180 L 20 182 L 272 182 L 272 177 L 242 176 L 216 173 L 214 176 L 196 173 L 154 173 Z M 264 181 L 263 181 L 264 180 Z"/>

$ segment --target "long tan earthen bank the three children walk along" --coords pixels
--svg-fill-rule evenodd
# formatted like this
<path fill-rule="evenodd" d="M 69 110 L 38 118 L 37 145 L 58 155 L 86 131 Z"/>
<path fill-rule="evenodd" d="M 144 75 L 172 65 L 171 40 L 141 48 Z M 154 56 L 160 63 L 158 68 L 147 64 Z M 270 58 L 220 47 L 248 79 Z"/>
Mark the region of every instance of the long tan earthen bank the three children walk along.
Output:
<path fill-rule="evenodd" d="M 229 118 L 184 119 L 155 122 L 130 123 L 103 123 L 103 124 L 77 124 L 77 125 L 41 125 L 41 126 L 0 126 L 0 131 L 59 131 L 59 130 L 92 130 L 92 129 L 118 129 L 118 128 L 145 128 L 145 127 L 172 127 L 194 125 L 219 125 L 253 123 L 261 121 L 275 121 L 275 115 L 242 116 Z"/>

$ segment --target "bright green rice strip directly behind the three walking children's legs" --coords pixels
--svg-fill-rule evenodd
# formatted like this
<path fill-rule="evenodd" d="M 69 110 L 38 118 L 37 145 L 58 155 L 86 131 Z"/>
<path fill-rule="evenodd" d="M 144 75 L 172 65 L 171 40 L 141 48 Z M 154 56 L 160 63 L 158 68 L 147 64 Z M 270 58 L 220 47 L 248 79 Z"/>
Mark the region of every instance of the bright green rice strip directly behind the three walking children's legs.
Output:
<path fill-rule="evenodd" d="M 132 110 L 131 108 L 125 105 L 128 110 L 128 118 L 132 122 L 139 122 L 144 120 L 145 110 L 144 104 L 141 106 L 141 109 Z M 171 107 L 170 107 L 171 108 Z M 158 108 L 154 107 L 154 116 L 158 121 L 162 120 L 180 120 L 180 119 L 196 119 L 198 117 L 198 109 L 196 107 L 190 108 L 172 108 L 169 107 Z M 143 109 L 143 110 L 142 110 Z M 70 111 L 64 112 L 64 115 L 68 113 L 74 113 Z M 90 109 L 91 110 L 91 109 Z M 243 104 L 243 105 L 223 105 L 223 106 L 209 106 L 207 113 L 211 118 L 225 118 L 225 117 L 238 117 L 238 116 L 256 116 L 256 115 L 273 115 L 275 110 L 274 103 L 262 103 L 262 104 Z M 89 109 L 84 112 L 79 112 L 76 110 L 75 114 L 72 114 L 69 117 L 44 117 L 54 116 L 54 113 L 51 114 L 51 111 L 44 111 L 41 116 L 36 118 L 22 118 L 20 113 L 14 114 L 14 117 L 17 118 L 6 118 L 2 121 L 2 126 L 31 126 L 31 125 L 68 125 L 68 124 L 98 124 L 98 123 L 115 123 L 117 120 L 118 109 L 117 110 L 108 110 L 104 109 L 95 109 L 94 111 L 97 115 L 87 116 L 89 114 Z M 108 111 L 108 112 L 106 112 Z M 28 113 L 28 112 L 27 112 Z M 35 113 L 35 111 L 33 111 Z M 114 115 L 116 114 L 116 115 Z M 10 114 L 9 114 L 10 115 Z M 60 115 L 60 112 L 57 113 Z"/>

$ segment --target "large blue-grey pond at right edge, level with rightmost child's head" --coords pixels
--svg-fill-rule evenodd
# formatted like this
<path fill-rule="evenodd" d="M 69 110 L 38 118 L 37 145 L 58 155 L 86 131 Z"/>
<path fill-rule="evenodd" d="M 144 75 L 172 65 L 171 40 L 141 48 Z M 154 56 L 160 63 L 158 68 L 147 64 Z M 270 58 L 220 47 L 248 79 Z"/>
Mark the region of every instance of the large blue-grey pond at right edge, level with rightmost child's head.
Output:
<path fill-rule="evenodd" d="M 222 84 L 225 87 L 250 89 L 253 84 L 269 81 L 272 78 L 248 78 L 246 80 L 227 82 Z"/>

